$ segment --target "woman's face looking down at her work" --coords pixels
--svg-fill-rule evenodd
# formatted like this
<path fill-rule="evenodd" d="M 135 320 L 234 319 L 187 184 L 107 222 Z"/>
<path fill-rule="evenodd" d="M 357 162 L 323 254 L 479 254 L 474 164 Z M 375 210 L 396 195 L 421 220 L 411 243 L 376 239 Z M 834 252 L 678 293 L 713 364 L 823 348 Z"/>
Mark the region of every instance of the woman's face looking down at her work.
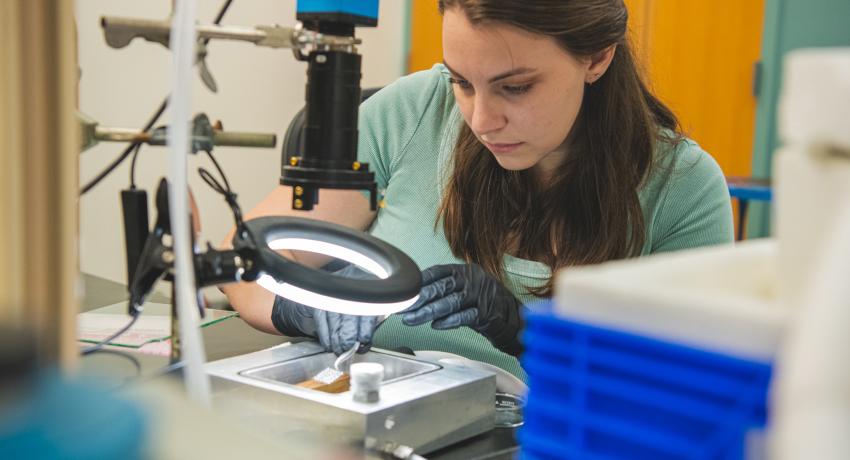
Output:
<path fill-rule="evenodd" d="M 592 63 L 554 39 L 498 23 L 443 15 L 443 61 L 464 120 L 499 164 L 544 177 L 561 163 Z"/>

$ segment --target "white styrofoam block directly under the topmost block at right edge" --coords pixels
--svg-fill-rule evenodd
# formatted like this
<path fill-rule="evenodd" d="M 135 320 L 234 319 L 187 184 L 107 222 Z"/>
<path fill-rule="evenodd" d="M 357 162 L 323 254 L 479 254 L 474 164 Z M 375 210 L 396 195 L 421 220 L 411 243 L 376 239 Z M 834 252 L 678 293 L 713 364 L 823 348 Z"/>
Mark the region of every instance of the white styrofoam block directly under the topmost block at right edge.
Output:
<path fill-rule="evenodd" d="M 850 125 L 847 131 L 850 132 Z M 803 290 L 811 282 L 824 232 L 832 228 L 838 205 L 850 197 L 850 160 L 800 154 L 795 151 L 799 148 L 777 150 L 773 159 L 778 294 L 790 305 L 803 304 Z M 817 148 L 810 146 L 808 150 Z"/>

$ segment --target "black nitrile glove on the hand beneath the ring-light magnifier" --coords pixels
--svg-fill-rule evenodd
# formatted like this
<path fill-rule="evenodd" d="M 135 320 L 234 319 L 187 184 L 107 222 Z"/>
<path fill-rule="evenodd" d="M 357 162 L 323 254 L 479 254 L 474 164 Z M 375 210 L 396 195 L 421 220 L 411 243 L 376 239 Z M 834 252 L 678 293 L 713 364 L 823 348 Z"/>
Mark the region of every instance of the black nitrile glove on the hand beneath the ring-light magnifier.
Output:
<path fill-rule="evenodd" d="M 357 279 L 374 278 L 356 265 L 348 265 L 334 274 Z M 355 342 L 360 343 L 359 353 L 368 351 L 372 344 L 372 334 L 378 326 L 378 317 L 319 310 L 276 296 L 272 323 L 283 335 L 318 338 L 326 350 L 340 355 L 351 349 Z"/>

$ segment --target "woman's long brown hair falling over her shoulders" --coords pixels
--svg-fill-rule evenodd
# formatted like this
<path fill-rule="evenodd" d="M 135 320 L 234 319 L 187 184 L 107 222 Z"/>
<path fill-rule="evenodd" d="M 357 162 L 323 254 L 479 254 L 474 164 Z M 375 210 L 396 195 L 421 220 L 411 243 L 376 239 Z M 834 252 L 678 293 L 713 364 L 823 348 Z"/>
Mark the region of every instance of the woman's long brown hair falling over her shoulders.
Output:
<path fill-rule="evenodd" d="M 502 255 L 511 246 L 513 255 L 553 272 L 638 255 L 646 238 L 638 189 L 656 142 L 675 142 L 679 124 L 640 76 L 623 1 L 440 0 L 439 8 L 460 8 L 473 24 L 508 24 L 552 37 L 577 57 L 616 45 L 608 70 L 585 87 L 570 153 L 550 186 L 530 171 L 499 166 L 463 123 L 438 215 L 455 256 L 502 278 Z M 529 291 L 551 295 L 552 279 Z"/>

